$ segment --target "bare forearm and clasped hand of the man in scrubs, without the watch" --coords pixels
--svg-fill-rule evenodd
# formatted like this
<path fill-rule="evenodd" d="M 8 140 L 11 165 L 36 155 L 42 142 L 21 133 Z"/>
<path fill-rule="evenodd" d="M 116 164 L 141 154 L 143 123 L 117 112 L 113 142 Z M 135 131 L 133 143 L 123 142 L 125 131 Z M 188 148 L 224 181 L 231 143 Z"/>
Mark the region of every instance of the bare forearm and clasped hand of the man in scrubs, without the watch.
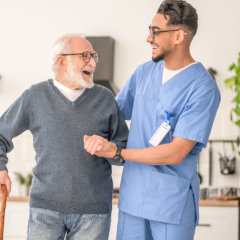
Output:
<path fill-rule="evenodd" d="M 174 137 L 168 144 L 143 149 L 122 149 L 121 156 L 124 160 L 150 164 L 170 165 L 181 163 L 196 142 Z M 90 154 L 99 157 L 113 158 L 116 155 L 117 146 L 108 142 L 101 136 L 84 136 L 84 148 Z"/>

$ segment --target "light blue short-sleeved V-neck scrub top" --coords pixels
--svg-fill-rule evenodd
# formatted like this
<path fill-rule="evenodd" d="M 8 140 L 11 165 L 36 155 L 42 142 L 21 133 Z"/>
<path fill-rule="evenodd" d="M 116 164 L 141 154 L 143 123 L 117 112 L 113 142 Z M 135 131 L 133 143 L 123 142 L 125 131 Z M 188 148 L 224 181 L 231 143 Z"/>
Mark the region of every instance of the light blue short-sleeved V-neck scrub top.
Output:
<path fill-rule="evenodd" d="M 146 165 L 125 161 L 119 209 L 134 216 L 180 224 L 192 187 L 198 223 L 198 155 L 206 147 L 219 106 L 220 93 L 201 63 L 193 64 L 162 85 L 163 61 L 147 62 L 134 72 L 116 97 L 120 111 L 131 120 L 127 148 L 150 147 L 149 139 L 171 113 L 173 136 L 197 144 L 181 164 Z"/>

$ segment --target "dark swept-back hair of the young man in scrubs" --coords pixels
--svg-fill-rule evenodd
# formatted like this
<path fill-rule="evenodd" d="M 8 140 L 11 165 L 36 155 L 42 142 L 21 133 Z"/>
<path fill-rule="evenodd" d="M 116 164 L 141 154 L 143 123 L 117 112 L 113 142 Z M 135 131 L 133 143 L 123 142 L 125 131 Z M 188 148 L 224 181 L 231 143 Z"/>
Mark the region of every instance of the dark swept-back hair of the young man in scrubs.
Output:
<path fill-rule="evenodd" d="M 165 0 L 157 13 L 169 16 L 167 25 L 180 25 L 190 30 L 192 36 L 197 32 L 198 15 L 196 9 L 183 0 Z"/>

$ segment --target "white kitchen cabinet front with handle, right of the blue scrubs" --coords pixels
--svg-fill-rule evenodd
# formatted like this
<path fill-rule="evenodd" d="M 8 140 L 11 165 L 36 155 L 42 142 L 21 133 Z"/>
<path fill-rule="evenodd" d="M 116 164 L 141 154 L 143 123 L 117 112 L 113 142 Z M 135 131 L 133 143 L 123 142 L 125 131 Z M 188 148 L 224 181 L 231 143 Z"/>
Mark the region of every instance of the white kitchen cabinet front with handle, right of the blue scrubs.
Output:
<path fill-rule="evenodd" d="M 240 240 L 238 206 L 200 206 L 194 240 Z"/>

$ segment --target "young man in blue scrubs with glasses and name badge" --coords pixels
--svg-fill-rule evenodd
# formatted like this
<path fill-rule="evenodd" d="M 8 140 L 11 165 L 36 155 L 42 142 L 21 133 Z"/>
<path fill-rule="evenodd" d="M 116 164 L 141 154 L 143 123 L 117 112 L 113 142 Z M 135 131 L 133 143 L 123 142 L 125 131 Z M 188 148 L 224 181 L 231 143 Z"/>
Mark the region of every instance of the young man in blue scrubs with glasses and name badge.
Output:
<path fill-rule="evenodd" d="M 118 240 L 194 238 L 197 159 L 220 102 L 216 83 L 190 54 L 197 27 L 189 3 L 164 1 L 149 26 L 152 61 L 138 67 L 117 96 L 131 120 L 127 149 L 96 135 L 84 138 L 91 154 L 125 160 Z"/>

